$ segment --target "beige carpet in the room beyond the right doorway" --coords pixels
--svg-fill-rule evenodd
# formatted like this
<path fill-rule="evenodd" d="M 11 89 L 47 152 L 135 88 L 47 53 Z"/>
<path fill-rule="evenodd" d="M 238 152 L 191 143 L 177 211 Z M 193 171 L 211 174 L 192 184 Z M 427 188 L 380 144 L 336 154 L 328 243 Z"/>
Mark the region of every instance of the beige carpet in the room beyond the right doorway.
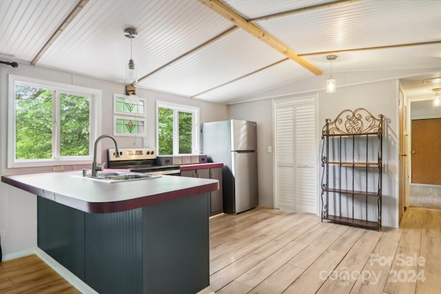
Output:
<path fill-rule="evenodd" d="M 411 184 L 410 206 L 441 209 L 441 185 Z"/>

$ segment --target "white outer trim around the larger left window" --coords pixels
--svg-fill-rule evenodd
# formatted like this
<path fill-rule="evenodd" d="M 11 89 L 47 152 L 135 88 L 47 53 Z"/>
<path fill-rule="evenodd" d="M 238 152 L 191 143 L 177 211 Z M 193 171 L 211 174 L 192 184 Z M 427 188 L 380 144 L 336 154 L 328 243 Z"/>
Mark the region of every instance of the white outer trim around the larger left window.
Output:
<path fill-rule="evenodd" d="M 63 92 L 72 94 L 72 92 L 81 92 L 81 94 L 88 94 L 90 96 L 90 149 L 89 156 L 69 156 L 51 159 L 33 159 L 33 160 L 16 160 L 15 159 L 15 84 L 16 83 L 29 84 L 38 87 L 54 88 L 63 90 Z M 90 164 L 93 160 L 94 141 L 98 137 L 99 130 L 101 130 L 101 90 L 96 90 L 88 87 L 80 87 L 76 85 L 68 85 L 63 83 L 56 83 L 52 81 L 43 81 L 37 78 L 29 78 L 25 76 L 9 75 L 8 81 L 8 168 L 17 167 L 46 167 L 53 165 L 85 165 Z M 59 95 L 59 94 L 57 94 Z M 59 140 L 60 130 L 57 129 L 56 140 Z M 59 143 L 59 142 L 57 142 Z M 96 150 L 100 154 L 100 150 Z"/>

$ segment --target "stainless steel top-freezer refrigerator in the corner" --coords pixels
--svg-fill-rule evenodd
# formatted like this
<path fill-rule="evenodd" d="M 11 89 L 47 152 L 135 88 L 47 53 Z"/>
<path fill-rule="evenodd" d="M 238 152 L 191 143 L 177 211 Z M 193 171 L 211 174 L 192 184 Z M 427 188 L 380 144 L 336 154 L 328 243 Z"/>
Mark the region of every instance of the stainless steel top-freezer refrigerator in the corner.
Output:
<path fill-rule="evenodd" d="M 203 123 L 202 143 L 209 162 L 223 162 L 223 212 L 256 207 L 257 124 L 234 119 Z"/>

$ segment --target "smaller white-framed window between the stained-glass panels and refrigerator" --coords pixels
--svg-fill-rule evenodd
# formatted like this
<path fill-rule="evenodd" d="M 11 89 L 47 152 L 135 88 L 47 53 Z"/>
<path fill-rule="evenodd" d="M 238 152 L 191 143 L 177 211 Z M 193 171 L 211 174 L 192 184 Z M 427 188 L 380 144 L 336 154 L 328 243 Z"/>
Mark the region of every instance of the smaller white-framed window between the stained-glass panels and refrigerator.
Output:
<path fill-rule="evenodd" d="M 158 154 L 198 154 L 198 120 L 198 107 L 158 101 L 156 103 Z"/>

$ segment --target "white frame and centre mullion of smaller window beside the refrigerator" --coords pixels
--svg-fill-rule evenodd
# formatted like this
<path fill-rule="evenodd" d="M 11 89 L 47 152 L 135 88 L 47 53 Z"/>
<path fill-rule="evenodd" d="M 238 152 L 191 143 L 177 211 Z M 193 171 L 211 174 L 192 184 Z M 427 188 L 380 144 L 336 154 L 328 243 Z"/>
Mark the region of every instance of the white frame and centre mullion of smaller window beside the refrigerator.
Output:
<path fill-rule="evenodd" d="M 159 107 L 173 109 L 173 154 L 159 154 Z M 178 112 L 191 112 L 192 116 L 192 153 L 191 154 L 179 154 L 179 133 L 175 132 L 178 129 L 178 120 L 176 120 L 176 116 Z M 165 101 L 156 101 L 156 150 L 158 150 L 158 155 L 165 156 L 181 156 L 181 155 L 196 155 L 199 154 L 200 151 L 200 109 L 199 107 L 183 105 L 178 103 L 170 103 Z"/>

